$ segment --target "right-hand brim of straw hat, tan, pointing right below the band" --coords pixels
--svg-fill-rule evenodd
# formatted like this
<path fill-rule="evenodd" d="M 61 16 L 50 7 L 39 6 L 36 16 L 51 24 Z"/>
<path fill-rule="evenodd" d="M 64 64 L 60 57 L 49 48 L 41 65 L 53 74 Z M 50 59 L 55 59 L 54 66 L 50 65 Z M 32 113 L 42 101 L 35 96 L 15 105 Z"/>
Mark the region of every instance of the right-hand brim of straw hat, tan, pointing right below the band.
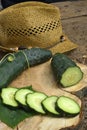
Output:
<path fill-rule="evenodd" d="M 64 41 L 58 42 L 54 46 L 49 48 L 49 50 L 51 50 L 53 54 L 58 52 L 68 52 L 78 47 L 78 45 L 73 43 L 65 34 L 63 34 L 63 36 L 65 37 Z"/>

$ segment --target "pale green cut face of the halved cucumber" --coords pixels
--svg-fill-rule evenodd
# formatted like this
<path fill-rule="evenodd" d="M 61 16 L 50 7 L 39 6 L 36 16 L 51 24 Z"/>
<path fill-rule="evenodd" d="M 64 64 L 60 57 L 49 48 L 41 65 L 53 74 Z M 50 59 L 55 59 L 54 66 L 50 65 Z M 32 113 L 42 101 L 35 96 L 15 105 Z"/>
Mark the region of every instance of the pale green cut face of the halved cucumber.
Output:
<path fill-rule="evenodd" d="M 78 66 L 69 67 L 62 75 L 60 83 L 63 87 L 70 87 L 77 84 L 83 77 L 83 72 Z"/>

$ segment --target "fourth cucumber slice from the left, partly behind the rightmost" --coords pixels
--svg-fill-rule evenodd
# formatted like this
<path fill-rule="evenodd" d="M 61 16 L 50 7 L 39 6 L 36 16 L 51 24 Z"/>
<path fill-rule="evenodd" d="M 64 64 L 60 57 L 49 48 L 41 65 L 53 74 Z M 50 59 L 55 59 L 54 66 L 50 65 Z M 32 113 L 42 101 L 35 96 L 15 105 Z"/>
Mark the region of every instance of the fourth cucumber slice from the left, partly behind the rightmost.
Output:
<path fill-rule="evenodd" d="M 42 101 L 42 105 L 44 107 L 44 109 L 46 109 L 48 112 L 55 114 L 55 115 L 60 115 L 60 113 L 58 111 L 56 111 L 56 101 L 57 101 L 58 97 L 57 96 L 49 96 L 47 98 L 45 98 Z"/>

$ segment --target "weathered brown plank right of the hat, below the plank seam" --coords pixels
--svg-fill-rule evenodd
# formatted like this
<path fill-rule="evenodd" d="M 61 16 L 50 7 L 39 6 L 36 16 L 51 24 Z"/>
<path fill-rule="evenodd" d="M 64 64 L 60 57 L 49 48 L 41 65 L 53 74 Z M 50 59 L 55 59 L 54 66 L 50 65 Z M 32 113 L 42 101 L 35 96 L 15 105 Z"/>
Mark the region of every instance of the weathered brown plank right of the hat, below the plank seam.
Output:
<path fill-rule="evenodd" d="M 87 17 L 62 20 L 63 31 L 78 48 L 71 51 L 69 56 L 87 65 Z"/>

